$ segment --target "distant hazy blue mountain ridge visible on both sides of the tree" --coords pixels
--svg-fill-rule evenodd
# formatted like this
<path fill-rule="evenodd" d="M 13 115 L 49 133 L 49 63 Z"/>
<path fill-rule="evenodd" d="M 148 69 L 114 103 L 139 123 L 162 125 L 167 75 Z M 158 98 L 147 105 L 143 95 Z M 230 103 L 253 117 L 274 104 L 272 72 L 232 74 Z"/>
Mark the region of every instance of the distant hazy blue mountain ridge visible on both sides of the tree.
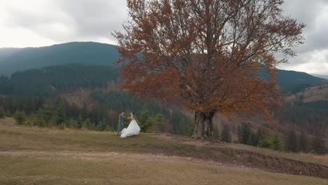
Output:
<path fill-rule="evenodd" d="M 93 41 L 59 43 L 28 48 L 0 48 L 0 76 L 17 71 L 41 69 L 62 64 L 91 64 L 113 66 L 118 60 L 117 46 Z M 282 93 L 297 93 L 311 85 L 323 83 L 323 78 L 299 71 L 278 71 Z"/>

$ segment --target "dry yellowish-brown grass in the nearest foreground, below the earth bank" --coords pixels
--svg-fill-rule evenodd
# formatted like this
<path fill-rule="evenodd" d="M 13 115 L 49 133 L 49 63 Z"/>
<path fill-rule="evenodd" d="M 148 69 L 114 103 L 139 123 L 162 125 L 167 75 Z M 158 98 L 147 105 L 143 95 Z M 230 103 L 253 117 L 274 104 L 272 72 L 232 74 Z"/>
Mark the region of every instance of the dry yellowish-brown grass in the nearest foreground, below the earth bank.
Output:
<path fill-rule="evenodd" d="M 121 153 L 1 153 L 0 169 L 0 184 L 327 184 L 313 177 Z"/>

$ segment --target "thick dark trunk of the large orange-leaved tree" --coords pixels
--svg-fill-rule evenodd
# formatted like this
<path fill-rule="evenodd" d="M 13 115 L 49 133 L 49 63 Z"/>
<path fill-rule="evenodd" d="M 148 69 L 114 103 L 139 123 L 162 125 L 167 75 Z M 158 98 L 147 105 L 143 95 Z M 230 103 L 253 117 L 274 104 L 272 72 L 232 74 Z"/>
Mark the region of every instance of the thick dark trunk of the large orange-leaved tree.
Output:
<path fill-rule="evenodd" d="M 195 130 L 193 131 L 194 139 L 212 139 L 213 117 L 214 112 L 195 112 Z"/>

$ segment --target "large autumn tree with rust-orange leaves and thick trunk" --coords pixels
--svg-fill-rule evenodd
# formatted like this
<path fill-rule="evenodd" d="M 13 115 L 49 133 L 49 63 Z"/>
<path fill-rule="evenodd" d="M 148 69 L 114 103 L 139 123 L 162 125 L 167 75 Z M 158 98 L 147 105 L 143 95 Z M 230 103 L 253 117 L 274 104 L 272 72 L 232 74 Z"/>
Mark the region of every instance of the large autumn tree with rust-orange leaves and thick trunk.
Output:
<path fill-rule="evenodd" d="M 270 115 L 279 97 L 276 67 L 303 40 L 304 25 L 283 15 L 282 0 L 127 4 L 125 32 L 114 33 L 123 88 L 195 111 L 196 139 L 210 139 L 217 112 Z"/>

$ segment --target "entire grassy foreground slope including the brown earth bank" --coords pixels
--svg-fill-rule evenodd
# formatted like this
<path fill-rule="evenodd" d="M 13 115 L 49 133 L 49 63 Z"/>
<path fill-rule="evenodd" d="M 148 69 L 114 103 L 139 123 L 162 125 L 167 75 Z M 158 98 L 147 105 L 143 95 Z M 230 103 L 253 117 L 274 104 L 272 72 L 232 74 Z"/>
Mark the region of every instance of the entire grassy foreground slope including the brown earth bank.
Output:
<path fill-rule="evenodd" d="M 0 120 L 0 133 L 0 184 L 328 182 L 327 156 L 193 142 L 171 135 L 120 139 L 112 132 L 25 128 L 8 118 Z"/>

